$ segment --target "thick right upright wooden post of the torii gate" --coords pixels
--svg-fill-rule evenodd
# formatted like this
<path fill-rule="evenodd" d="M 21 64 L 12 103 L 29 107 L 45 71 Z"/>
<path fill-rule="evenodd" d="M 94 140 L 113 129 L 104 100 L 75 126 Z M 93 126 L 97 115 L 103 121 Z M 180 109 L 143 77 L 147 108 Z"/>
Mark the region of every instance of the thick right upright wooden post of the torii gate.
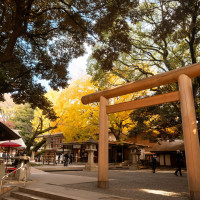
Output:
<path fill-rule="evenodd" d="M 178 79 L 188 187 L 192 200 L 200 199 L 200 147 L 191 79 L 182 74 Z"/>

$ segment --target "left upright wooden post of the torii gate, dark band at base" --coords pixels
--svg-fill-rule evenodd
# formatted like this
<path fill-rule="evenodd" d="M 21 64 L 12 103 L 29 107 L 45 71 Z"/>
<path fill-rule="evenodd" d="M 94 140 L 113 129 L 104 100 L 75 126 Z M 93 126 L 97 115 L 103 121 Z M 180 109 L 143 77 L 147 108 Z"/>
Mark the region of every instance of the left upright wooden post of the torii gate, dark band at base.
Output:
<path fill-rule="evenodd" d="M 98 155 L 98 187 L 108 188 L 108 115 L 106 106 L 108 99 L 100 97 L 99 110 L 99 155 Z"/>

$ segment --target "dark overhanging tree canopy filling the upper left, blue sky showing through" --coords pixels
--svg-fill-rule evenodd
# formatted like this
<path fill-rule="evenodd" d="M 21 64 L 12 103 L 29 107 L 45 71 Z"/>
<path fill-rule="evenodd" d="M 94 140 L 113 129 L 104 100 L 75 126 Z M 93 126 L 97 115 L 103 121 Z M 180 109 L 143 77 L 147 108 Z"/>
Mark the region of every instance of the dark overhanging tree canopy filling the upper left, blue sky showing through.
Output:
<path fill-rule="evenodd" d="M 128 35 L 120 30 L 128 28 L 127 8 L 136 5 L 127 0 L 1 1 L 0 99 L 12 93 L 16 103 L 29 102 L 55 119 L 43 96 L 45 88 L 37 80 L 48 80 L 52 89 L 64 88 L 69 62 L 83 55 L 85 43 L 104 43 L 102 33 L 112 26 L 119 30 L 119 48 L 124 40 L 128 42 Z M 130 48 L 126 46 L 123 49 Z"/>

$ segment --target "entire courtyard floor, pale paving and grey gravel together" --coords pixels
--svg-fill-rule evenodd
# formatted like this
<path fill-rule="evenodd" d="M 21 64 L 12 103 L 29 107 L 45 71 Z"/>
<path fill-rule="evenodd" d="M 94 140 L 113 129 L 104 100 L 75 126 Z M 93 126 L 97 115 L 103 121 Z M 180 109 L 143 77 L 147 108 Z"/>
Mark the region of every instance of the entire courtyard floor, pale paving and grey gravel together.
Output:
<path fill-rule="evenodd" d="M 72 168 L 74 167 L 73 171 Z M 46 170 L 48 172 L 42 171 Z M 173 171 L 110 170 L 109 188 L 97 187 L 97 172 L 80 171 L 81 166 L 42 166 L 31 168 L 26 187 L 64 194 L 79 200 L 188 200 L 187 174 Z M 50 172 L 51 171 L 51 172 Z"/>

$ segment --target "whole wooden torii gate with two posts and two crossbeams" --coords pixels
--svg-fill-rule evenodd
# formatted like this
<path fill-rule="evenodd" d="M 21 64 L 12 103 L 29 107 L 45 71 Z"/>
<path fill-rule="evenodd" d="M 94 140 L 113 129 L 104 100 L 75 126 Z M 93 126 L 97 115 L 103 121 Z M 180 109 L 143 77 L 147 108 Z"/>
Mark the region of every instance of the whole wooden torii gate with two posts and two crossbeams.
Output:
<path fill-rule="evenodd" d="M 189 192 L 191 199 L 200 200 L 200 146 L 191 82 L 191 78 L 197 76 L 200 76 L 200 63 L 82 97 L 81 101 L 83 104 L 100 102 L 98 187 L 108 187 L 108 114 L 180 101 Z M 108 105 L 109 98 L 174 82 L 178 82 L 179 91 L 116 105 Z"/>

